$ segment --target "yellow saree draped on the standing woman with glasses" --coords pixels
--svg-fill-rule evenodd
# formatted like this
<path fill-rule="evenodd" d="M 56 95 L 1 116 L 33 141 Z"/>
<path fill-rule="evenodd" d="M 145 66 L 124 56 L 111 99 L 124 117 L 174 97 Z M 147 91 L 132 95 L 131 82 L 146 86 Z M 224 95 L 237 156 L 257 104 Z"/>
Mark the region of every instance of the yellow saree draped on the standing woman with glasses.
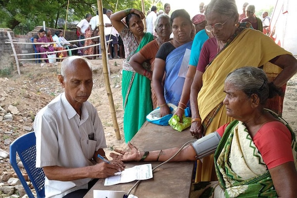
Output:
<path fill-rule="evenodd" d="M 247 28 L 213 59 L 202 76 L 203 86 L 198 94 L 198 109 L 203 126 L 205 127 L 205 122 L 211 120 L 204 128 L 205 135 L 233 120 L 226 115 L 226 108 L 222 106 L 226 76 L 240 67 L 260 67 L 283 54 L 290 52 L 277 46 L 263 33 Z M 202 164 L 198 163 L 200 170 L 197 169 L 196 182 L 211 181 L 213 155 L 204 157 L 202 161 Z"/>

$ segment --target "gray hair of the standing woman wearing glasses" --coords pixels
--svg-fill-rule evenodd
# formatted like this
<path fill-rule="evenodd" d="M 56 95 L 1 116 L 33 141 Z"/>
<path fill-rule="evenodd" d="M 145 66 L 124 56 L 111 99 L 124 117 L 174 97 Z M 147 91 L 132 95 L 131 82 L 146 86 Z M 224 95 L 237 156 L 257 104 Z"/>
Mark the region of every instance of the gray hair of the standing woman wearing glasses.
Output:
<path fill-rule="evenodd" d="M 238 15 L 235 0 L 211 0 L 207 5 L 205 16 L 211 12 L 216 12 L 229 17 Z"/>

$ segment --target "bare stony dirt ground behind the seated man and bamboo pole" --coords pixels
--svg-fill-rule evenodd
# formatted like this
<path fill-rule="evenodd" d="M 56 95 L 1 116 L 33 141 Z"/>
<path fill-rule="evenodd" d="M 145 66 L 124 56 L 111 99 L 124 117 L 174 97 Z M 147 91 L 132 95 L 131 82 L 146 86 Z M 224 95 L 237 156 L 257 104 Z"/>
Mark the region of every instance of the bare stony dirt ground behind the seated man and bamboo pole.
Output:
<path fill-rule="evenodd" d="M 121 69 L 123 59 L 109 60 L 110 87 L 116 109 L 117 122 L 120 129 L 121 140 L 117 140 L 110 114 L 108 97 L 105 90 L 104 77 L 102 75 L 102 60 L 89 60 L 94 71 L 94 87 L 89 99 L 98 109 L 99 117 L 105 131 L 108 148 L 106 156 L 114 148 L 126 147 L 123 137 L 123 107 L 121 96 Z M 28 133 L 28 127 L 33 128 L 33 120 L 36 113 L 49 101 L 63 92 L 58 80 L 57 64 L 24 64 L 21 66 L 21 75 L 15 71 L 12 76 L 0 78 L 0 95 L 5 92 L 6 96 L 0 96 L 0 106 L 5 110 L 12 104 L 17 107 L 19 113 L 13 115 L 12 122 L 0 122 L 0 148 L 9 152 L 9 144 L 17 137 Z M 283 117 L 297 133 L 297 75 L 287 84 L 284 101 Z M 33 129 L 31 130 L 33 131 Z M 9 159 L 1 160 L 0 174 L 2 171 L 12 171 Z"/>

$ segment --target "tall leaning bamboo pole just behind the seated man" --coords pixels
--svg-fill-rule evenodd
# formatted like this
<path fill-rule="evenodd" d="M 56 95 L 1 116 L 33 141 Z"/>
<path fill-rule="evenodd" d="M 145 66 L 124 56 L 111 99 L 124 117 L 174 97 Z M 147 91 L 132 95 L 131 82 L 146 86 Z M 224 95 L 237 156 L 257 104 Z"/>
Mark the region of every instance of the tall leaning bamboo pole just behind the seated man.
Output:
<path fill-rule="evenodd" d="M 105 81 L 105 89 L 108 96 L 110 113 L 112 117 L 114 132 L 117 140 L 121 140 L 120 130 L 116 119 L 116 112 L 113 103 L 113 97 L 110 89 L 109 83 L 109 75 L 107 68 L 107 55 L 106 55 L 106 44 L 105 44 L 105 36 L 104 36 L 104 24 L 103 24 L 103 13 L 102 13 L 102 0 L 97 0 L 98 4 L 98 15 L 99 15 L 99 32 L 100 32 L 100 44 L 101 44 L 101 53 L 102 53 L 102 64 L 103 64 L 103 76 Z"/>

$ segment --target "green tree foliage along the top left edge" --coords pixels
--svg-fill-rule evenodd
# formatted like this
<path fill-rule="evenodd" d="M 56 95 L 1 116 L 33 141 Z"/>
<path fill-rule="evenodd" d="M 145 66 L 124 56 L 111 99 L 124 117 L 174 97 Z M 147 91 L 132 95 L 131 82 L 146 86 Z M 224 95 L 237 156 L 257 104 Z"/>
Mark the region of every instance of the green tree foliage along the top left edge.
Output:
<path fill-rule="evenodd" d="M 0 27 L 10 28 L 16 34 L 26 34 L 35 26 L 63 28 L 68 0 L 0 0 Z M 133 7 L 141 9 L 141 0 L 102 0 L 102 6 L 113 12 Z M 145 11 L 156 4 L 163 9 L 160 0 L 145 0 Z M 70 1 L 67 22 L 78 22 L 87 13 L 96 14 L 97 0 Z M 59 22 L 59 23 L 58 23 Z"/>

